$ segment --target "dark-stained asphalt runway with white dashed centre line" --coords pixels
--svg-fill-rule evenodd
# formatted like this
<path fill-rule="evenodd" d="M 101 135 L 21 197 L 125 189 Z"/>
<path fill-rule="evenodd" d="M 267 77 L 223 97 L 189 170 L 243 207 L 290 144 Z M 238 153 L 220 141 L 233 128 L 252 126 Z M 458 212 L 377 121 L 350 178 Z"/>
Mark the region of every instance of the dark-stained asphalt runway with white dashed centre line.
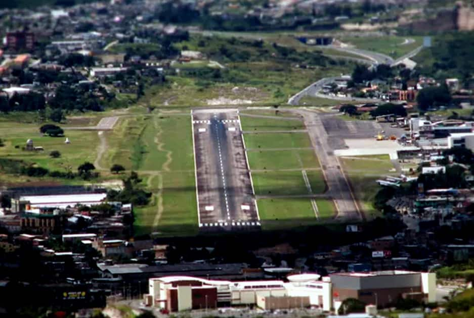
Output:
<path fill-rule="evenodd" d="M 260 226 L 238 111 L 192 112 L 201 230 Z"/>

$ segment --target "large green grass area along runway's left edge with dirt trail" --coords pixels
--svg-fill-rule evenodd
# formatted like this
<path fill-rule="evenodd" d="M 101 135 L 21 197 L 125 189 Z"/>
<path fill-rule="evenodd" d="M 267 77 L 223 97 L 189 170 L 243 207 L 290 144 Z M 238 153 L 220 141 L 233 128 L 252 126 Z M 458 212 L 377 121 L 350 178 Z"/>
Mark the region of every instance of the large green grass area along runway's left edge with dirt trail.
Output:
<path fill-rule="evenodd" d="M 147 176 L 153 193 L 135 210 L 137 235 L 195 235 L 197 206 L 191 120 L 186 116 L 138 115 L 124 118 L 108 139 L 104 165 L 121 162 Z"/>

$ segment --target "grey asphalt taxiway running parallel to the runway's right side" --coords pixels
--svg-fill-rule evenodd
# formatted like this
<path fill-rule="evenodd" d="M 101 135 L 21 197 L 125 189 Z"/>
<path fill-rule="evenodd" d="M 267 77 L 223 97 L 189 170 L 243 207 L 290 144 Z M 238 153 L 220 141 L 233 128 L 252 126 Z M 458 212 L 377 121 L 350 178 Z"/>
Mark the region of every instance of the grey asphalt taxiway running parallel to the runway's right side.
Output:
<path fill-rule="evenodd" d="M 292 110 L 303 116 L 306 128 L 309 131 L 311 142 L 315 148 L 320 165 L 327 182 L 327 196 L 334 199 L 337 207 L 337 218 L 344 220 L 360 220 L 362 215 L 352 193 L 349 182 L 344 176 L 338 158 L 328 145 L 328 135 L 319 115 L 305 110 Z"/>

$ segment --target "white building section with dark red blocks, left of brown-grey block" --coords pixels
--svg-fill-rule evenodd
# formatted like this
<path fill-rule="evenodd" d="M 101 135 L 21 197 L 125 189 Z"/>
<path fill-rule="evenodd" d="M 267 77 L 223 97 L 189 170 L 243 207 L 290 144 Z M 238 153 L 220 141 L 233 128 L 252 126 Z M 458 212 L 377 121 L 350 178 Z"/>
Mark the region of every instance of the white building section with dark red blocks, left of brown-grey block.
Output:
<path fill-rule="evenodd" d="M 319 275 L 292 275 L 289 283 L 280 280 L 231 282 L 190 276 L 151 278 L 145 298 L 151 297 L 153 306 L 170 311 L 228 305 L 273 309 L 319 306 L 330 310 L 331 283 L 315 281 L 316 277 Z M 184 289 L 185 286 L 189 288 Z M 207 301 L 203 302 L 203 298 Z"/>

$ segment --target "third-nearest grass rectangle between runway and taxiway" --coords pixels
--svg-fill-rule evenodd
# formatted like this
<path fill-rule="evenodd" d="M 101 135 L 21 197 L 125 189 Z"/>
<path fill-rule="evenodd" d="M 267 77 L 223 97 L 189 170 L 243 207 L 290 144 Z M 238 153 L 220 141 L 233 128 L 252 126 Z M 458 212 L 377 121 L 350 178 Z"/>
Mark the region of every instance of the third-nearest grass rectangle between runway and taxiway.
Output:
<path fill-rule="evenodd" d="M 252 170 L 312 169 L 319 168 L 313 149 L 252 150 L 247 151 Z"/>

